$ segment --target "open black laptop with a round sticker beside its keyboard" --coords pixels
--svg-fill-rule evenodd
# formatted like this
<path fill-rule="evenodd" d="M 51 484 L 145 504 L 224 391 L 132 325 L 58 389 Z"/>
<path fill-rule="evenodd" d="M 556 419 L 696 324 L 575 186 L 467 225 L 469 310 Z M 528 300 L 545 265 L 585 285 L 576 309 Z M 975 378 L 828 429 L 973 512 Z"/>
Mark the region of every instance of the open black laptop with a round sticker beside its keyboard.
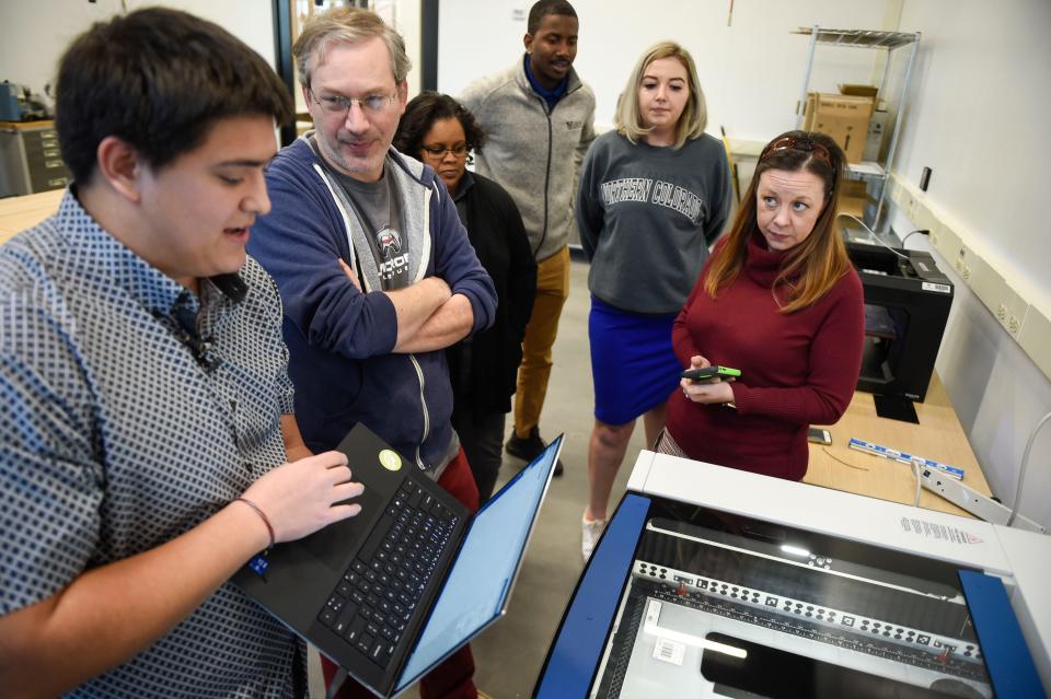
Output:
<path fill-rule="evenodd" d="M 337 448 L 361 512 L 232 581 L 377 695 L 399 694 L 504 615 L 562 440 L 471 516 L 359 423 Z"/>

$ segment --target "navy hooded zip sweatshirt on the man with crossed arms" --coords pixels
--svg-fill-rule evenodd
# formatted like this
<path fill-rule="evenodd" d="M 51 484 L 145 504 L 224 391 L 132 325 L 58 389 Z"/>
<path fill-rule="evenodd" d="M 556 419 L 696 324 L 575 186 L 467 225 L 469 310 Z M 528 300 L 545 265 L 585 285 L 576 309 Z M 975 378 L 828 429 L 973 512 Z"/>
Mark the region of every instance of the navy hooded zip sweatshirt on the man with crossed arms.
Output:
<path fill-rule="evenodd" d="M 440 277 L 452 293 L 470 300 L 472 331 L 489 327 L 496 310 L 493 281 L 444 185 L 430 167 L 394 149 L 385 168 L 402 199 L 404 244 L 418 260 L 413 282 Z M 339 267 L 337 258 L 353 269 L 361 258 L 362 267 L 374 269 L 372 253 L 361 247 L 354 208 L 336 194 L 338 183 L 305 137 L 278 153 L 266 183 L 273 208 L 252 228 L 249 253 L 281 292 L 296 418 L 307 446 L 334 448 L 363 422 L 421 469 L 443 466 L 453 444 L 444 351 L 393 352 L 394 304 L 370 275 L 362 276 L 358 291 Z"/>

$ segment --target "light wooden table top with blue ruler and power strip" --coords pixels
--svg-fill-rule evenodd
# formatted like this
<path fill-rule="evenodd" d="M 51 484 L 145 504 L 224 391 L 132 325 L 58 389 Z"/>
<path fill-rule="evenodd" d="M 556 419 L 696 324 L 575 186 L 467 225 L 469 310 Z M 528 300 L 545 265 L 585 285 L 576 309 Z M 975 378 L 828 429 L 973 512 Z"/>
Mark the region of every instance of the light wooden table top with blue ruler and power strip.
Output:
<path fill-rule="evenodd" d="M 920 424 L 880 418 L 876 415 L 873 395 L 855 392 L 843 418 L 827 428 L 832 433 L 832 444 L 809 445 L 810 465 L 804 482 L 912 504 L 916 488 L 913 469 L 889 458 L 850 448 L 851 438 L 856 438 L 962 468 L 967 486 L 991 494 L 937 373 L 931 377 L 926 400 L 915 407 Z M 972 516 L 926 489 L 921 489 L 920 506 Z"/>

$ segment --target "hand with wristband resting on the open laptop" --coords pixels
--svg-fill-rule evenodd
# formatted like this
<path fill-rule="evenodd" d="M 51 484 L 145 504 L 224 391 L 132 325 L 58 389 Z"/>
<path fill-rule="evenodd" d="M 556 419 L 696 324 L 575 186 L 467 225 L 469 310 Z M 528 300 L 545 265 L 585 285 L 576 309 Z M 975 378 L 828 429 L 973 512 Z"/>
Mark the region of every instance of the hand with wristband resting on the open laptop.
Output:
<path fill-rule="evenodd" d="M 273 528 L 275 543 L 291 541 L 361 511 L 361 505 L 347 502 L 365 490 L 350 478 L 347 455 L 324 452 L 278 466 L 241 499 Z"/>

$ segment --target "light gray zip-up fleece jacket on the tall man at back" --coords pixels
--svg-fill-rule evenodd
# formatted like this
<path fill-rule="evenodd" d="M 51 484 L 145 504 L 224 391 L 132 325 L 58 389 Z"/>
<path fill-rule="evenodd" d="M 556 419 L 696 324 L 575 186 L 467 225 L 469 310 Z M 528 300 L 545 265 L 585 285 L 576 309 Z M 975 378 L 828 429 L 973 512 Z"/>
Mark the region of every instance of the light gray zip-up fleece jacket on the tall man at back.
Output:
<path fill-rule="evenodd" d="M 460 96 L 487 137 L 477 172 L 515 199 L 538 260 L 566 245 L 577 172 L 594 140 L 594 93 L 573 69 L 567 79 L 565 96 L 550 112 L 529 84 L 522 58 Z"/>

